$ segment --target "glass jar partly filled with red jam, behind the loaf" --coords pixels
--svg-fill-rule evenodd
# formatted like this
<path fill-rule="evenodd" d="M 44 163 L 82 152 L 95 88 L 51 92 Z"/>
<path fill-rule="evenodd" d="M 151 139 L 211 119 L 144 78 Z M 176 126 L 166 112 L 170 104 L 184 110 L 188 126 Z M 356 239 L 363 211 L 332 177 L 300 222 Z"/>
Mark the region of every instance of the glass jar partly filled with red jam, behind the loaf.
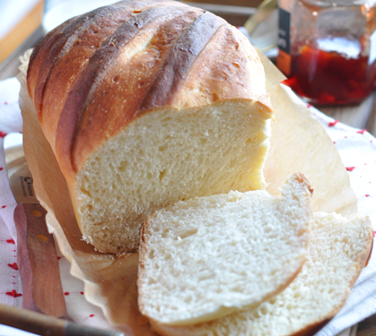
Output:
<path fill-rule="evenodd" d="M 376 86 L 372 0 L 280 0 L 277 66 L 311 104 L 356 104 Z"/>

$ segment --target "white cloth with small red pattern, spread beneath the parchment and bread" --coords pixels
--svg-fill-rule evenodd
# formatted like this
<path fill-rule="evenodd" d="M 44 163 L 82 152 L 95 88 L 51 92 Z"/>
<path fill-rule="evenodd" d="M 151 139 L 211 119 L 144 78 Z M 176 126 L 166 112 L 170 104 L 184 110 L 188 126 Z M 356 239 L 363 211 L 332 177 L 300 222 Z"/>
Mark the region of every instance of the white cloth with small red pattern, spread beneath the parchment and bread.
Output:
<path fill-rule="evenodd" d="M 16 231 L 13 222 L 15 202 L 4 169 L 4 134 L 22 132 L 18 107 L 20 85 L 15 78 L 0 82 L 0 303 L 22 307 L 22 283 L 17 267 Z M 358 199 L 358 212 L 368 215 L 376 228 L 376 139 L 365 130 L 343 125 L 310 107 L 328 135 L 335 142 L 351 185 Z M 314 145 L 314 144 L 312 144 Z M 70 275 L 70 263 L 58 251 L 66 307 L 69 317 L 77 323 L 111 329 L 101 309 L 83 297 L 83 282 Z M 334 336 L 354 323 L 376 313 L 376 260 L 372 254 L 369 265 L 356 281 L 345 307 L 317 336 Z"/>

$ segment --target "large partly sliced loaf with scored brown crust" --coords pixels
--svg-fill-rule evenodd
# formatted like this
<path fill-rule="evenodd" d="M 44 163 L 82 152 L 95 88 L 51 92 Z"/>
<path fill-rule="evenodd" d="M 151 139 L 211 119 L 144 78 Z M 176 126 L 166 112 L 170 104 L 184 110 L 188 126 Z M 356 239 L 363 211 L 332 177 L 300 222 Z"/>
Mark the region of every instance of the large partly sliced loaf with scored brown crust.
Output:
<path fill-rule="evenodd" d="M 173 1 L 101 7 L 48 33 L 27 80 L 83 239 L 101 252 L 136 250 L 144 219 L 166 205 L 266 186 L 264 69 L 212 13 Z"/>

